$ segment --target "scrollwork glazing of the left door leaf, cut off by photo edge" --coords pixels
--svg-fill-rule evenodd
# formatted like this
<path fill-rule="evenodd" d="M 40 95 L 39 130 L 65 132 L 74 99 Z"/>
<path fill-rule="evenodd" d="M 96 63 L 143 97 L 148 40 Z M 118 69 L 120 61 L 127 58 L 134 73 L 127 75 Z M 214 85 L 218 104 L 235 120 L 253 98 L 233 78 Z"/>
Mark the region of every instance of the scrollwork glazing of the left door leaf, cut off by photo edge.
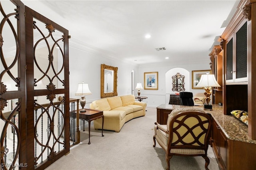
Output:
<path fill-rule="evenodd" d="M 0 159 L 1 169 L 19 169 L 20 40 L 19 11 L 10 1 L 0 1 Z M 25 166 L 25 165 L 24 165 Z"/>

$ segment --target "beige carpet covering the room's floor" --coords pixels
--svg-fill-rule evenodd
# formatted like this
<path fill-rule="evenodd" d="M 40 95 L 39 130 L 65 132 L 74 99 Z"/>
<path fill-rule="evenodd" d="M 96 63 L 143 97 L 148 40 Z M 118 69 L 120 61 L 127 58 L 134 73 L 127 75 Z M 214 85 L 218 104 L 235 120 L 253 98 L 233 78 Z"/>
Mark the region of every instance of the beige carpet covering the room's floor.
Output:
<path fill-rule="evenodd" d="M 81 143 L 73 146 L 47 170 L 164 170 L 165 152 L 156 144 L 153 147 L 156 108 L 147 108 L 146 116 L 124 124 L 119 133 L 91 128 L 91 144 L 88 145 L 88 127 L 81 131 Z M 210 170 L 219 170 L 212 152 L 208 149 Z M 204 170 L 204 158 L 173 156 L 171 170 Z"/>

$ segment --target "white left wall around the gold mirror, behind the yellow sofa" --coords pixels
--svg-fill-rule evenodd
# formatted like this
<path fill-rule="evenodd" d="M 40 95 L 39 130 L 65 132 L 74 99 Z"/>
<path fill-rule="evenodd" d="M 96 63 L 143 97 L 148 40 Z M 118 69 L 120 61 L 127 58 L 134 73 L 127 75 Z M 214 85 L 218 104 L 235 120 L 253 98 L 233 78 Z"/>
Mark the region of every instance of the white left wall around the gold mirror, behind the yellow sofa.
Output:
<path fill-rule="evenodd" d="M 86 95 L 86 106 L 100 99 L 100 71 L 101 64 L 118 67 L 117 92 L 118 95 L 132 94 L 132 70 L 134 75 L 138 74 L 138 66 L 119 59 L 111 59 L 102 55 L 99 51 L 88 50 L 86 47 L 75 47 L 70 40 L 69 47 L 69 70 L 70 70 L 70 98 L 80 99 L 76 96 L 78 83 L 88 83 L 92 95 Z"/>

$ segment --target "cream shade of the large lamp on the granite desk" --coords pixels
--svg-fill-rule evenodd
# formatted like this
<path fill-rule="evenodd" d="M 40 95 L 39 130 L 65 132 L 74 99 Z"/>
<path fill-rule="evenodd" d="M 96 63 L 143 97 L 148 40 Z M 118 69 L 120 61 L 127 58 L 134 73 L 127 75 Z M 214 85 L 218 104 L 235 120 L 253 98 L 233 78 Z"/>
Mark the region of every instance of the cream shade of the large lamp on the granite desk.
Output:
<path fill-rule="evenodd" d="M 216 81 L 214 74 L 203 74 L 196 87 L 220 87 Z"/>

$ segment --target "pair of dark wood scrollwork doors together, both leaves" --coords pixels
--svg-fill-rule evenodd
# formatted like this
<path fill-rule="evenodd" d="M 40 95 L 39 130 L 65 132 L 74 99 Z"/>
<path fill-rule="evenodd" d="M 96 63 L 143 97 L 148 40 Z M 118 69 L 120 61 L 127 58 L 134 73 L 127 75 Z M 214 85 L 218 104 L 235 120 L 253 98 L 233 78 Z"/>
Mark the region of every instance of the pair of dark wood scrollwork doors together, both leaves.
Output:
<path fill-rule="evenodd" d="M 70 36 L 19 0 L 0 7 L 0 169 L 44 169 L 70 148 Z"/>

